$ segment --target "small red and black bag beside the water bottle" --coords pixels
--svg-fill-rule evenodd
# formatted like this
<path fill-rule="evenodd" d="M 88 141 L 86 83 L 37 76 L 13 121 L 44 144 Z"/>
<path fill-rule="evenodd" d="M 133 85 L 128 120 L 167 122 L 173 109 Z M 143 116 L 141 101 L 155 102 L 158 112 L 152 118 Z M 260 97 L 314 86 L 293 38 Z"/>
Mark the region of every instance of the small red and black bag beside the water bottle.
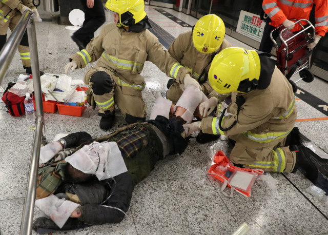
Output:
<path fill-rule="evenodd" d="M 8 90 L 15 85 L 15 83 L 8 83 L 8 87 L 6 88 L 4 95 L 2 96 L 2 101 L 6 104 L 6 108 L 8 112 L 12 116 L 21 116 L 25 113 L 24 108 L 24 100 L 25 96 L 18 96 Z"/>

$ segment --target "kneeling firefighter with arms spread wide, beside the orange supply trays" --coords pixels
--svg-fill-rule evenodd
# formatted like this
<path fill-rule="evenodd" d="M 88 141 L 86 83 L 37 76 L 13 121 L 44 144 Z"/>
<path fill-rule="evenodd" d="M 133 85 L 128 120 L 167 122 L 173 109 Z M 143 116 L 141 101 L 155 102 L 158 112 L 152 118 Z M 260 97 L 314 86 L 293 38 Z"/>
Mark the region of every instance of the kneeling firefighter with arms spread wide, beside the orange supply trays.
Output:
<path fill-rule="evenodd" d="M 114 122 L 115 104 L 127 123 L 145 121 L 147 106 L 141 91 L 146 84 L 140 73 L 146 61 L 153 62 L 179 83 L 199 84 L 148 30 L 151 26 L 144 0 L 109 0 L 106 8 L 114 12 L 114 23 L 105 25 L 86 49 L 72 55 L 65 72 L 70 68 L 85 68 L 98 60 L 86 72 L 84 81 L 90 85 L 86 92 L 88 102 L 99 107 L 100 128 L 109 130 Z"/>

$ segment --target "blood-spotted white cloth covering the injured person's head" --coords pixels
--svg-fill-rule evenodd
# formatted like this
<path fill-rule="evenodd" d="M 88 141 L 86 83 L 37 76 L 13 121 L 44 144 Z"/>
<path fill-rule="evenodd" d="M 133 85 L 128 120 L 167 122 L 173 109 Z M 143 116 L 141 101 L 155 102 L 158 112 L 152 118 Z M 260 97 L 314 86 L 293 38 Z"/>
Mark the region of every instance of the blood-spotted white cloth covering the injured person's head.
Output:
<path fill-rule="evenodd" d="M 116 142 L 93 142 L 65 159 L 74 168 L 105 180 L 128 171 Z"/>

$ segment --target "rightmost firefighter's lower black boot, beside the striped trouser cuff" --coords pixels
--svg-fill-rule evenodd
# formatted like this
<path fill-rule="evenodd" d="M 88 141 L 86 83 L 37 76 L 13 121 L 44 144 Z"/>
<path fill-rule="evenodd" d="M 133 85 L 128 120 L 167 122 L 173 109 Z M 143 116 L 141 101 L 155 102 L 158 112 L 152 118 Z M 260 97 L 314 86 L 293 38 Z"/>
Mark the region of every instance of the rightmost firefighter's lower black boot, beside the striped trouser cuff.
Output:
<path fill-rule="evenodd" d="M 289 147 L 291 151 L 296 152 L 296 163 L 292 173 L 295 173 L 297 168 L 303 168 L 305 177 L 309 180 L 315 180 L 318 177 L 318 168 L 311 161 L 308 150 L 303 145 L 292 145 Z"/>

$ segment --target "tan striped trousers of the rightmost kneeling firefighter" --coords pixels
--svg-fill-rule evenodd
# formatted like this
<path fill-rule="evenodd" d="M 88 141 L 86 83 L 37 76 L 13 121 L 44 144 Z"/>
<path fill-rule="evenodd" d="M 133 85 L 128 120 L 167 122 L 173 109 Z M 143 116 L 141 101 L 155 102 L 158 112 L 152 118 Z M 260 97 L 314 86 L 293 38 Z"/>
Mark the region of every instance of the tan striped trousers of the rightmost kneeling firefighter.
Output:
<path fill-rule="evenodd" d="M 293 171 L 296 154 L 290 151 L 289 147 L 283 147 L 286 138 L 269 143 L 252 141 L 243 134 L 232 135 L 230 138 L 236 141 L 229 158 L 232 163 L 264 171 Z"/>

